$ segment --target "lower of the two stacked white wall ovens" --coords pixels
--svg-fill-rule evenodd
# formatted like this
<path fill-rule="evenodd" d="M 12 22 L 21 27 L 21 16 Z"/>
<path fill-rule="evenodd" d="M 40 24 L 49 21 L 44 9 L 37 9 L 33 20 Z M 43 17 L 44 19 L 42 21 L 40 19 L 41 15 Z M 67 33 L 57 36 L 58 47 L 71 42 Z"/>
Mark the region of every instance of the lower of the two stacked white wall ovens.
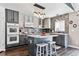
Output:
<path fill-rule="evenodd" d="M 7 35 L 7 44 L 19 43 L 19 35 Z"/>

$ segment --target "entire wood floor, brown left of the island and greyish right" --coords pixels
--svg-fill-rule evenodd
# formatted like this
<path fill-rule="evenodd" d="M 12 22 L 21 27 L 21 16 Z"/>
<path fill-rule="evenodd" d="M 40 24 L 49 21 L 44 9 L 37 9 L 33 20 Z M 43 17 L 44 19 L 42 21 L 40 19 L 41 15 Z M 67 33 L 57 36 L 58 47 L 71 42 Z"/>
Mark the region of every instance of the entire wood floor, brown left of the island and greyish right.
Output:
<path fill-rule="evenodd" d="M 75 48 L 59 49 L 57 50 L 58 56 L 79 56 L 79 50 Z M 1 52 L 0 56 L 29 56 L 27 46 L 20 46 L 9 48 L 5 52 Z"/>

